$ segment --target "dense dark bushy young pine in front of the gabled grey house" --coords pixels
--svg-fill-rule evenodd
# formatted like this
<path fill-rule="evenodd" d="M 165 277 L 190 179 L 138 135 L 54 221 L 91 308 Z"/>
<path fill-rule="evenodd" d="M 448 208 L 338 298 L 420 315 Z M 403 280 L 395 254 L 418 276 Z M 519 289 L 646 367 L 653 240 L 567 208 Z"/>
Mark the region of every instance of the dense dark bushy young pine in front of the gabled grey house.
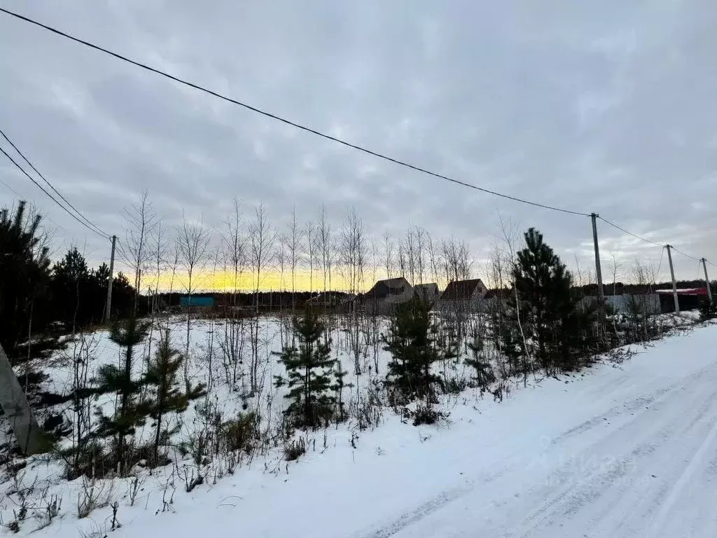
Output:
<path fill-rule="evenodd" d="M 440 378 L 431 372 L 431 365 L 442 358 L 435 346 L 435 331 L 429 305 L 413 299 L 397 305 L 389 332 L 382 335 L 384 349 L 391 353 L 386 374 L 395 396 L 405 400 L 415 397 L 430 405 L 435 400 L 435 385 Z"/>

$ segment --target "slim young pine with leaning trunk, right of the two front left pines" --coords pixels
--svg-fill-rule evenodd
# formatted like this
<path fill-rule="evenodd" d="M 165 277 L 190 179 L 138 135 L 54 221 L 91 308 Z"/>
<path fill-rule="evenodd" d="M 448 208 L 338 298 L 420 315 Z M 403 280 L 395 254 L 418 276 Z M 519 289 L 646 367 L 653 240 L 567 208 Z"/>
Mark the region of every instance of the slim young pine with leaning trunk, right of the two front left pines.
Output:
<path fill-rule="evenodd" d="M 184 363 L 184 356 L 169 343 L 169 330 L 162 337 L 153 359 L 148 360 L 147 371 L 144 374 L 145 384 L 154 388 L 154 395 L 149 400 L 147 410 L 156 421 L 154 435 L 154 461 L 158 461 L 159 443 L 161 437 L 168 438 L 171 431 L 162 431 L 162 417 L 168 412 L 182 412 L 189 406 L 189 400 L 206 394 L 204 385 L 189 387 L 182 391 L 179 388 L 179 369 Z"/>

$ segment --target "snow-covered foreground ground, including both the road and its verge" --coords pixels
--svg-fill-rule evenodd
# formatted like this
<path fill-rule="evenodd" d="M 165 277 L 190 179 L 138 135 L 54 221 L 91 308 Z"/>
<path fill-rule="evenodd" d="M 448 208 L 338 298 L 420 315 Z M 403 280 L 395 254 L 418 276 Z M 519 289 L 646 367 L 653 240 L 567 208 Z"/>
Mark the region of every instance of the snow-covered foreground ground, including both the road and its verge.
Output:
<path fill-rule="evenodd" d="M 390 412 L 375 430 L 340 425 L 298 461 L 256 458 L 191 493 L 169 468 L 143 475 L 133 506 L 130 481 L 97 487 L 118 501 L 116 537 L 713 537 L 716 344 L 717 326 L 698 326 L 503 402 L 466 391 L 442 402 L 450 425 Z M 104 536 L 110 507 L 78 521 L 81 481 L 57 473 L 36 461 L 4 488 L 37 476 L 36 491 L 62 496 L 42 535 Z M 4 499 L 5 524 L 17 502 Z"/>

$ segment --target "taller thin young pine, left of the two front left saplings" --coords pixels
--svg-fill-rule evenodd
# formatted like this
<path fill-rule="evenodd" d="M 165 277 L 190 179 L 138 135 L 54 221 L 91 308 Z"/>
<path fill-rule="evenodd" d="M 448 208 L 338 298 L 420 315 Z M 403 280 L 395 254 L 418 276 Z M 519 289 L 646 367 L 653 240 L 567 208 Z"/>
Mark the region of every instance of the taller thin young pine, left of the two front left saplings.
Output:
<path fill-rule="evenodd" d="M 123 348 L 123 368 L 115 364 L 104 364 L 98 371 L 98 382 L 102 392 L 116 392 L 120 405 L 113 416 L 100 414 L 98 435 L 113 437 L 116 442 L 115 456 L 120 463 L 120 473 L 128 469 L 129 454 L 126 438 L 133 435 L 137 426 L 145 422 L 148 409 L 138 401 L 141 382 L 133 378 L 134 348 L 146 339 L 149 322 L 140 321 L 135 316 L 113 324 L 110 329 L 110 340 Z"/>

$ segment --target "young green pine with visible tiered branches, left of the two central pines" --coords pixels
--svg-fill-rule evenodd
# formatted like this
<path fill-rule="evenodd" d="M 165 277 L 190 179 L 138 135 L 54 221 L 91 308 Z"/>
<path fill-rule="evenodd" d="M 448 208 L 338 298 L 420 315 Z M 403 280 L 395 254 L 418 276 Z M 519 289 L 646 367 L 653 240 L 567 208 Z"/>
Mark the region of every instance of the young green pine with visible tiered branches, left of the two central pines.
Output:
<path fill-rule="evenodd" d="M 331 358 L 331 339 L 322 339 L 326 326 L 317 313 L 307 309 L 303 317 L 294 318 L 293 331 L 298 347 L 282 349 L 279 362 L 286 369 L 287 379 L 277 376 L 275 385 L 289 389 L 286 397 L 291 403 L 286 414 L 294 424 L 315 428 L 328 424 L 337 405 L 336 395 L 331 393 L 336 360 Z M 343 379 L 343 374 L 334 372 L 333 377 Z"/>

